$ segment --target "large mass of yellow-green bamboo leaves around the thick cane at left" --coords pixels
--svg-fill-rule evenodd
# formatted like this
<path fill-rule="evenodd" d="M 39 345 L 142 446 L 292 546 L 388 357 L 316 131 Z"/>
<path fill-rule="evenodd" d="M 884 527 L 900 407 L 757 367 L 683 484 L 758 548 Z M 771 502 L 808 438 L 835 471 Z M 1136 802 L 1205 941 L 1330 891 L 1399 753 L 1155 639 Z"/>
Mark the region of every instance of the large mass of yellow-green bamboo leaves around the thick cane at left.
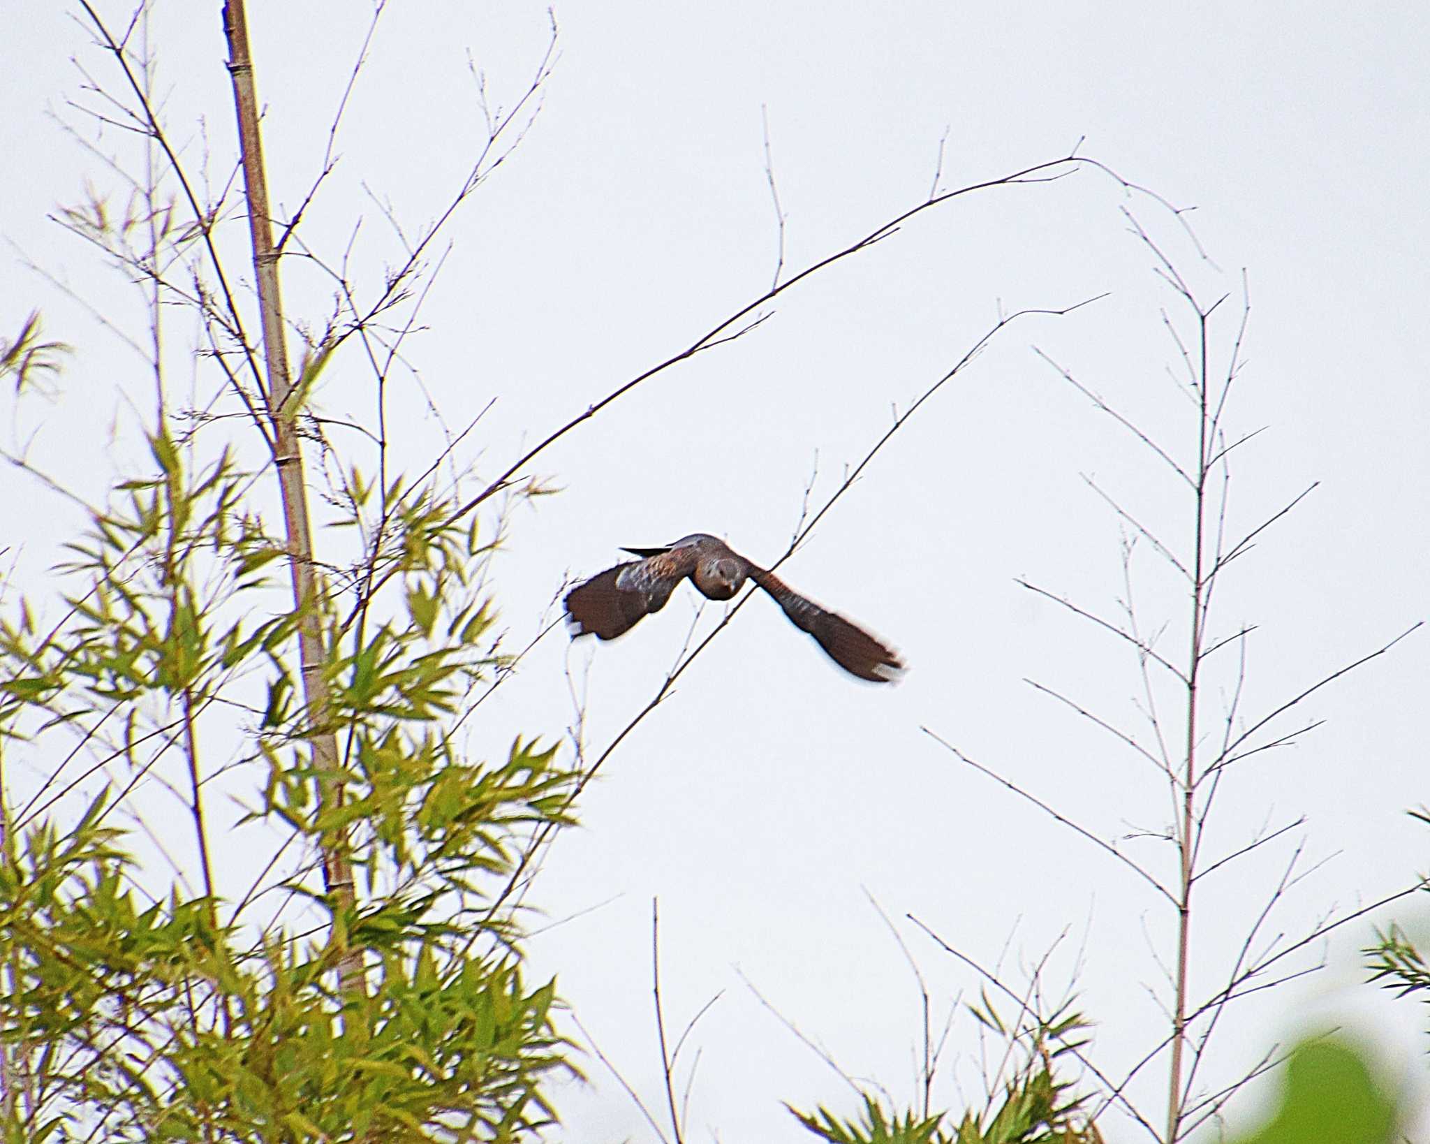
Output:
<path fill-rule="evenodd" d="M 499 891 L 531 829 L 565 821 L 572 775 L 525 738 L 490 759 L 465 745 L 473 688 L 505 668 L 483 646 L 490 548 L 430 486 L 369 488 L 368 516 L 355 499 L 347 523 L 373 541 L 317 609 L 316 711 L 253 476 L 226 452 L 194 465 L 164 432 L 150 453 L 154 473 L 70 546 L 61 618 L 43 626 L 44 602 L 23 601 L 0 619 L 3 759 L 53 768 L 4 805 L 4 1138 L 531 1135 L 569 1065 L 555 985 L 525 980 Z M 320 802 L 325 734 L 340 772 Z M 204 805 L 220 774 L 247 791 L 233 825 L 267 854 L 249 882 L 210 868 L 232 821 Z M 183 807 L 199 864 L 166 874 L 113 825 L 153 814 L 134 801 L 146 778 Z M 174 822 L 163 834 L 176 845 Z M 339 838 L 352 907 L 313 861 Z M 259 901 L 277 908 L 259 918 Z M 365 998 L 337 987 L 352 951 Z"/>

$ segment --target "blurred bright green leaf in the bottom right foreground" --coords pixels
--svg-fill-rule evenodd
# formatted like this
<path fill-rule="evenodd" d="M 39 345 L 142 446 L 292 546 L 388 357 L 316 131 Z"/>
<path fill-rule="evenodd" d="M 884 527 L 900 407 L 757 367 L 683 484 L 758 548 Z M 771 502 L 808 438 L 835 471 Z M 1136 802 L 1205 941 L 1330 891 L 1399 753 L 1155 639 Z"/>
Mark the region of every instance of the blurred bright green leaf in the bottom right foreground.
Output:
<path fill-rule="evenodd" d="M 1357 1047 L 1306 1041 L 1286 1067 L 1280 1110 L 1238 1144 L 1393 1144 L 1403 1138 L 1399 1103 Z"/>

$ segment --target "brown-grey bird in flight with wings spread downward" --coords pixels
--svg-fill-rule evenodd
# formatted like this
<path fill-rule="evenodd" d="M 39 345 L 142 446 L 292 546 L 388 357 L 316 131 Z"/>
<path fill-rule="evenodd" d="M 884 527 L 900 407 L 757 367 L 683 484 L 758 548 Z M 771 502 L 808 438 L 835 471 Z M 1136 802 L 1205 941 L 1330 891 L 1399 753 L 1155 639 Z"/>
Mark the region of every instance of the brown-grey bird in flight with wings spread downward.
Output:
<path fill-rule="evenodd" d="M 755 566 L 715 536 L 696 532 L 665 548 L 621 551 L 641 559 L 608 568 L 566 593 L 572 638 L 625 635 L 642 616 L 659 612 L 686 578 L 709 599 L 729 599 L 752 579 L 775 598 L 791 623 L 812 635 L 849 675 L 888 684 L 904 671 L 898 654 L 867 631 L 805 599 L 774 572 Z"/>

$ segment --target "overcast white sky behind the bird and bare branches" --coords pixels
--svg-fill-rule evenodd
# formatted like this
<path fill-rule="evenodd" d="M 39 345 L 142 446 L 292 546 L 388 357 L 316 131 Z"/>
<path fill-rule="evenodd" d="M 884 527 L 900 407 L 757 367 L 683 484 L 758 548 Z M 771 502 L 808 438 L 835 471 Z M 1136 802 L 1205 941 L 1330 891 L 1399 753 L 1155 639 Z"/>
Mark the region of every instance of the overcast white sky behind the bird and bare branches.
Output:
<path fill-rule="evenodd" d="M 316 170 L 368 6 L 250 0 L 249 19 L 282 213 Z M 1195 207 L 1214 266 L 1165 212 L 1090 170 L 927 212 L 786 295 L 751 336 L 661 375 L 545 453 L 538 470 L 563 492 L 516 512 L 495 583 L 512 639 L 525 642 L 555 615 L 563 578 L 606 566 L 618 545 L 708 531 L 774 559 L 815 459 L 818 502 L 887 428 L 891 406 L 907 408 L 1000 307 L 1113 292 L 1077 315 L 1007 330 L 782 568 L 794 586 L 898 645 L 907 681 L 851 682 L 772 603 L 754 601 L 588 792 L 582 829 L 559 841 L 533 895 L 553 918 L 586 912 L 533 940 L 532 954 L 538 971 L 559 972 L 601 1048 L 658 1107 L 649 911 L 659 898 L 668 1020 L 684 1025 L 725 991 L 694 1034 L 692 1140 L 805 1138 L 784 1100 L 852 1111 L 848 1088 L 741 974 L 847 1072 L 911 1097 L 917 991 L 867 894 L 971 957 L 1002 957 L 1014 980 L 1067 934 L 1050 962 L 1054 991 L 1075 968 L 1080 1004 L 1098 1022 L 1095 1054 L 1111 1072 L 1125 1068 L 1160 1037 L 1148 988 L 1165 991 L 1150 947 L 1170 955 L 1168 912 L 1125 868 L 919 728 L 1110 839 L 1165 825 L 1165 791 L 1148 768 L 1024 682 L 1131 721 L 1133 656 L 1014 583 L 1027 576 L 1115 611 L 1117 522 L 1081 473 L 1178 542 L 1187 535 L 1187 500 L 1165 473 L 1031 349 L 1191 448 L 1190 408 L 1165 373 L 1174 349 L 1160 309 L 1173 299 L 1127 235 L 1124 206 L 1208 300 L 1240 296 L 1243 267 L 1250 277 L 1248 365 L 1230 419 L 1270 429 L 1236 468 L 1233 522 L 1254 525 L 1321 482 L 1238 565 L 1217 605 L 1223 631 L 1258 625 L 1246 709 L 1274 706 L 1424 616 L 1430 9 L 606 0 L 558 6 L 556 19 L 542 112 L 453 226 L 425 312 L 430 332 L 412 349 L 450 423 L 496 399 L 466 458 L 485 473 L 768 286 L 778 233 L 762 109 L 788 214 L 786 267 L 925 199 L 940 140 L 944 187 L 1052 160 L 1085 136 L 1083 154 Z M 183 124 L 190 153 L 206 134 L 214 154 L 229 154 L 217 4 L 160 4 L 154 31 L 170 122 Z M 440 210 L 480 132 L 468 60 L 509 104 L 548 31 L 539 4 L 392 6 L 309 242 L 337 256 L 358 216 L 380 230 L 375 197 L 415 229 Z M 10 173 L 0 229 L 79 289 L 93 282 L 106 299 L 97 305 L 137 306 L 96 282 L 90 252 L 44 217 L 82 197 L 86 180 L 106 186 L 50 114 L 66 114 L 82 80 L 76 54 L 109 74 L 63 4 L 11 14 L 0 44 Z M 222 162 L 214 173 L 223 177 Z M 143 393 L 143 373 L 21 263 L 10 247 L 0 327 L 11 332 L 39 305 L 49 332 L 77 347 L 70 392 L 31 408 L 24 428 L 49 422 L 34 448 L 51 462 L 92 452 L 77 479 L 103 488 L 134 455 L 107 443 L 109 426 L 129 418 L 120 389 Z M 289 282 L 289 315 L 320 320 L 323 289 L 300 272 Z M 1228 303 L 1223 350 L 1234 319 Z M 330 375 L 325 408 L 358 409 L 342 373 Z M 418 433 L 415 398 L 410 410 Z M 13 472 L 6 480 L 0 528 L 24 543 L 21 573 L 36 575 L 66 516 Z M 1141 583 L 1148 626 L 1165 619 L 1165 638 L 1180 641 L 1181 598 L 1150 571 Z M 483 735 L 563 734 L 569 671 L 589 692 L 588 741 L 603 746 L 675 661 L 692 599 L 682 591 L 618 644 L 568 651 L 549 638 Z M 702 631 L 714 619 L 706 609 Z M 1244 768 L 1223 795 L 1227 848 L 1304 815 L 1293 838 L 1304 838 L 1307 864 L 1330 858 L 1296 888 L 1277 928 L 1296 934 L 1426 867 L 1426 829 L 1404 808 L 1430 798 L 1427 659 L 1421 633 L 1317 694 L 1304 714 L 1326 725 Z M 1171 868 L 1164 845 L 1123 845 Z M 1203 988 L 1294 845 L 1268 847 L 1240 875 L 1204 885 L 1194 935 Z M 1424 911 L 1410 904 L 1397 917 Z M 972 995 L 967 970 L 899 928 L 940 1015 L 960 991 Z M 1413 1061 L 1404 1047 L 1423 1047 L 1410 1032 L 1423 1014 L 1356 984 L 1356 950 L 1371 937 L 1369 921 L 1348 927 L 1326 972 L 1228 1018 L 1226 1071 L 1317 1014 L 1360 1014 L 1400 1047 L 1389 1060 Z M 935 1100 L 957 1108 L 977 1087 L 967 1018 L 954 1024 L 948 1061 Z M 649 1138 L 601 1065 L 588 1071 L 589 1087 L 561 1094 L 563 1138 Z M 1161 1077 L 1137 1090 L 1153 1108 Z M 1104 1128 L 1144 1138 L 1115 1118 Z"/>

